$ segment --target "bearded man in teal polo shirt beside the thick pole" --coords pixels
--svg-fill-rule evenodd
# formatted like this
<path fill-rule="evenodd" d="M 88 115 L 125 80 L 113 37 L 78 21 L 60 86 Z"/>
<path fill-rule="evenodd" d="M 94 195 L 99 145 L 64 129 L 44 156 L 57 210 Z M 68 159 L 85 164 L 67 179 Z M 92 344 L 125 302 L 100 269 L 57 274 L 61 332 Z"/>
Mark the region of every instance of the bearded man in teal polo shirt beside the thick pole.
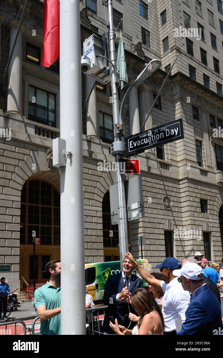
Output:
<path fill-rule="evenodd" d="M 49 261 L 49 281 L 34 292 L 35 308 L 40 318 L 40 334 L 60 334 L 60 260 Z"/>

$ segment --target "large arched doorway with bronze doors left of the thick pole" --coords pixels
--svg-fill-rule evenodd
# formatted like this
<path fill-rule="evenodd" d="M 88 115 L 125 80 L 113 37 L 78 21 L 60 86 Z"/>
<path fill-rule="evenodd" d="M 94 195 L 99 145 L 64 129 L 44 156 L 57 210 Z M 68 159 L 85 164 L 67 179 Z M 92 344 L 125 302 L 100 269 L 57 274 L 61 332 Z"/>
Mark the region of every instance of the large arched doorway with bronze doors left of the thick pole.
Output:
<path fill-rule="evenodd" d="M 20 208 L 20 275 L 33 283 L 33 238 L 40 238 L 35 247 L 36 282 L 46 282 L 45 265 L 60 258 L 60 194 L 43 179 L 28 179 L 21 190 Z"/>

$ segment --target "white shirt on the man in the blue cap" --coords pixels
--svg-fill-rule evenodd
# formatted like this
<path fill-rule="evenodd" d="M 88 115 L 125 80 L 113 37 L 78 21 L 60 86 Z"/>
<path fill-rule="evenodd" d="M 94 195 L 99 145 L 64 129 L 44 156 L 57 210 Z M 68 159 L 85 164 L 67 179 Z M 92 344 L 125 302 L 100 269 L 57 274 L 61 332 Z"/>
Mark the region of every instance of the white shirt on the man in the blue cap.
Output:
<path fill-rule="evenodd" d="M 176 330 L 175 319 L 180 314 L 182 314 L 182 318 L 185 317 L 185 311 L 190 303 L 190 293 L 184 291 L 177 279 L 178 277 L 175 277 L 169 284 L 165 284 L 164 281 L 160 282 L 161 288 L 164 291 L 162 313 L 165 332 Z M 182 319 L 182 321 L 184 320 Z"/>

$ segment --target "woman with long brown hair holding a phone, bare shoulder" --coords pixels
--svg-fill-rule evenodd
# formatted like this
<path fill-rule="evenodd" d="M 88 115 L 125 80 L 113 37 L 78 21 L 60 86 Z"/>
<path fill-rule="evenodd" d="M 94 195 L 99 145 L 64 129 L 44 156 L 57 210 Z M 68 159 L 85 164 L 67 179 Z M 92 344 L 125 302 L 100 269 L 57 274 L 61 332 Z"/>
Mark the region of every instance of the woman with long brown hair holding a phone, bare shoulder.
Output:
<path fill-rule="evenodd" d="M 117 319 L 115 324 L 110 321 L 111 329 L 117 335 L 134 334 L 134 335 L 154 335 L 161 334 L 165 328 L 164 319 L 159 305 L 154 300 L 151 293 L 145 288 L 139 288 L 127 298 L 126 301 L 132 304 L 140 318 L 134 329 L 118 325 Z M 131 300 L 130 300 L 131 299 Z M 121 329 L 121 331 L 120 331 Z"/>

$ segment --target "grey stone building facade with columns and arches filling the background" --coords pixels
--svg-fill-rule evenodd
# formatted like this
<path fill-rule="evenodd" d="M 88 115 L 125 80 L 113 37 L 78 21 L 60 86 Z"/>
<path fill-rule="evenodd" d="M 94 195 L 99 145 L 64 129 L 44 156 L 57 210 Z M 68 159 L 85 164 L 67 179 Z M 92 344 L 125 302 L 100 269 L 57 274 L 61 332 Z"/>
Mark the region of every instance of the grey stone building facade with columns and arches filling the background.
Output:
<path fill-rule="evenodd" d="M 52 140 L 60 133 L 59 73 L 56 64 L 50 70 L 40 64 L 43 42 L 41 0 L 28 3 L 8 78 L 3 82 L 21 4 L 19 0 L 0 0 L 0 265 L 11 265 L 11 272 L 6 276 L 12 290 L 19 286 L 21 276 L 32 282 L 32 229 L 39 228 L 37 234 L 44 243 L 36 249 L 39 282 L 45 280 L 42 274 L 44 262 L 60 255 L 60 176 L 58 169 L 52 166 Z M 152 267 L 170 254 L 179 260 L 193 257 L 195 251 L 205 253 L 205 257 L 212 261 L 222 257 L 223 141 L 220 130 L 223 128 L 223 101 L 217 83 L 222 85 L 223 80 L 219 27 L 223 15 L 217 4 L 210 5 L 207 1 L 202 7 L 202 14 L 197 14 L 200 10 L 195 8 L 192 0 L 113 0 L 115 25 L 123 19 L 128 84 L 134 81 L 149 59 L 157 58 L 162 62 L 159 71 L 130 93 L 124 111 L 126 136 L 140 132 L 168 66 L 177 56 L 144 130 L 182 118 L 184 139 L 134 157 L 140 160 L 145 217 L 129 223 L 129 243 L 135 257 L 140 257 L 138 237 L 145 236 L 142 252 Z M 208 10 L 213 14 L 215 28 L 209 24 L 212 19 Z M 190 16 L 192 28 L 198 27 L 197 23 L 204 26 L 204 40 L 190 38 L 191 44 L 185 37 L 174 36 L 174 29 L 184 27 L 185 21 L 189 21 L 184 13 Z M 107 9 L 101 1 L 83 0 L 80 19 L 83 43 L 92 32 L 101 37 L 106 31 Z M 216 37 L 217 49 L 210 33 Z M 119 37 L 117 33 L 117 40 Z M 207 64 L 203 63 L 205 52 L 201 58 L 200 48 L 207 51 Z M 213 57 L 219 59 L 219 73 Z M 207 77 L 203 74 L 209 77 L 210 88 L 207 88 Z M 91 86 L 92 79 L 82 74 L 83 105 Z M 39 93 L 39 107 L 32 104 L 33 93 L 34 97 Z M 43 98 L 47 98 L 47 105 Z M 122 99 L 121 92 L 120 106 Z M 109 135 L 105 137 L 112 123 L 111 102 L 110 84 L 104 87 L 98 83 L 82 111 L 86 263 L 118 259 L 117 234 L 113 246 L 107 237 L 107 231 L 113 229 L 116 232 L 117 229 L 111 227 L 107 194 L 109 187 L 115 184 L 115 173 L 97 170 L 99 162 L 114 160 Z M 47 121 L 37 114 L 37 107 L 39 113 L 46 111 Z M 11 130 L 11 139 L 6 137 L 7 129 Z M 39 198 L 42 197 L 38 199 L 36 193 L 41 193 Z M 50 215 L 47 214 L 49 211 Z M 47 225 L 49 217 L 52 222 Z"/>

